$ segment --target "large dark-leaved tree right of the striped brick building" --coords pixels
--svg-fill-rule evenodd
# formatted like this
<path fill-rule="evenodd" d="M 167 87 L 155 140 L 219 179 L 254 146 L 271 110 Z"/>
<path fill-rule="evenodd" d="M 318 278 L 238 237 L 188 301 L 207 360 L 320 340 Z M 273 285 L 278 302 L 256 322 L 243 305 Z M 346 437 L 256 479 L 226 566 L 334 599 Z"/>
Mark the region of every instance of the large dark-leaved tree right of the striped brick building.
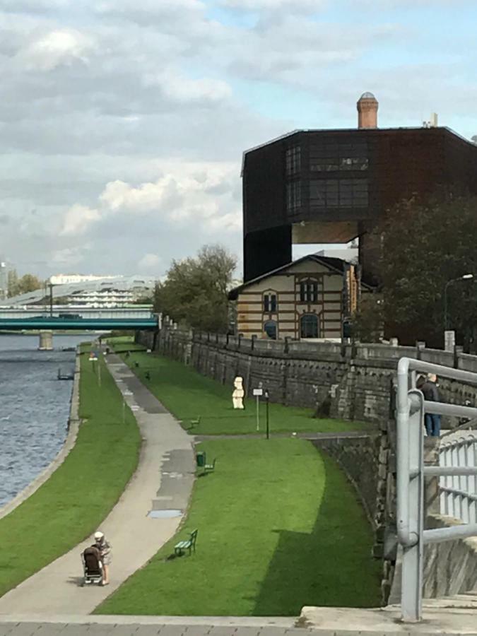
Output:
<path fill-rule="evenodd" d="M 466 273 L 477 276 L 477 197 L 405 201 L 390 211 L 377 232 L 387 336 L 442 347 L 444 287 Z M 475 339 L 476 290 L 473 280 L 448 288 L 449 326 L 467 351 Z"/>

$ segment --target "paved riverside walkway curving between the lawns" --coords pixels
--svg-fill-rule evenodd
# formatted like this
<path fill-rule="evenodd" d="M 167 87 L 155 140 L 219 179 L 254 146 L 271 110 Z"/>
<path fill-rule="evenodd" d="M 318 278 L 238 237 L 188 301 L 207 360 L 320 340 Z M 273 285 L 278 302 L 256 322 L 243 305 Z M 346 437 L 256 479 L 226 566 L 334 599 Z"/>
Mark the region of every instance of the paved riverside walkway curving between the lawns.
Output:
<path fill-rule="evenodd" d="M 90 537 L 2 596 L 0 621 L 12 614 L 91 613 L 175 534 L 187 508 L 195 471 L 193 438 L 119 357 L 110 355 L 108 367 L 132 408 L 143 437 L 138 469 L 101 524 L 112 543 L 111 583 L 106 587 L 80 587 L 80 554 L 93 543 Z M 159 518 L 148 516 L 153 510 Z M 160 515 L 175 514 L 161 512 L 165 510 L 177 510 L 178 516 L 161 518 Z M 0 635 L 4 633 L 2 629 L 0 625 Z"/>

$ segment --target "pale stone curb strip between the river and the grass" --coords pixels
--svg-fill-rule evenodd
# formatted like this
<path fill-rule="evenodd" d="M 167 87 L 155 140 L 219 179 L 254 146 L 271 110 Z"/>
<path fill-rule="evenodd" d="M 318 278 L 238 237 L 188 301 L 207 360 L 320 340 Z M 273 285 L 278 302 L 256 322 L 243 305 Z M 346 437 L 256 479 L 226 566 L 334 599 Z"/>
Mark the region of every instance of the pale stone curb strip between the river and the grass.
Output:
<path fill-rule="evenodd" d="M 74 370 L 74 378 L 73 378 L 73 391 L 71 392 L 71 403 L 70 403 L 70 413 L 69 413 L 69 430 L 68 435 L 64 440 L 63 446 L 59 449 L 56 457 L 52 459 L 49 465 L 35 477 L 35 479 L 29 483 L 23 490 L 20 490 L 20 493 L 13 497 L 11 501 L 9 501 L 3 508 L 0 508 L 0 519 L 4 519 L 8 514 L 13 512 L 19 505 L 23 504 L 31 495 L 36 493 L 38 488 L 42 486 L 48 479 L 52 476 L 54 471 L 56 471 L 61 464 L 63 464 L 66 457 L 68 457 L 69 452 L 73 449 L 76 444 L 76 438 L 78 437 L 79 427 L 81 425 L 81 420 L 79 417 L 79 397 L 80 397 L 80 375 L 81 375 L 81 364 L 80 364 L 80 353 L 79 351 L 76 353 L 75 360 L 75 370 Z"/>

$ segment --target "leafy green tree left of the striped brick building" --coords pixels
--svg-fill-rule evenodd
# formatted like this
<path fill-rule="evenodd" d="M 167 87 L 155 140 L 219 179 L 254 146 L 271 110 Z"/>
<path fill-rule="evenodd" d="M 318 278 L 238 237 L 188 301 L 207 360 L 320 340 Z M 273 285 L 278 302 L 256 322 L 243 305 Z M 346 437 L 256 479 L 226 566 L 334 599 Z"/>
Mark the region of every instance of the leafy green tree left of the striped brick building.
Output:
<path fill-rule="evenodd" d="M 201 331 L 227 331 L 227 294 L 237 260 L 219 245 L 206 245 L 196 258 L 172 261 L 154 293 L 154 310 Z"/>

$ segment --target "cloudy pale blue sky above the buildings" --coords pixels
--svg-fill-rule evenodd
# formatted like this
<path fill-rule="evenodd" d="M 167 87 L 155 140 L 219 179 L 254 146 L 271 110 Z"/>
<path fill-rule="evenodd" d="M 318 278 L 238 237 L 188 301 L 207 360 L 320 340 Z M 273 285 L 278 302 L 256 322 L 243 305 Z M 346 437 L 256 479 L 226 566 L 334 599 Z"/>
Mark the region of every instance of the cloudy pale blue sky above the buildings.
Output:
<path fill-rule="evenodd" d="M 475 0 L 0 0 L 0 258 L 163 276 L 242 257 L 242 152 L 431 112 L 477 134 Z"/>

